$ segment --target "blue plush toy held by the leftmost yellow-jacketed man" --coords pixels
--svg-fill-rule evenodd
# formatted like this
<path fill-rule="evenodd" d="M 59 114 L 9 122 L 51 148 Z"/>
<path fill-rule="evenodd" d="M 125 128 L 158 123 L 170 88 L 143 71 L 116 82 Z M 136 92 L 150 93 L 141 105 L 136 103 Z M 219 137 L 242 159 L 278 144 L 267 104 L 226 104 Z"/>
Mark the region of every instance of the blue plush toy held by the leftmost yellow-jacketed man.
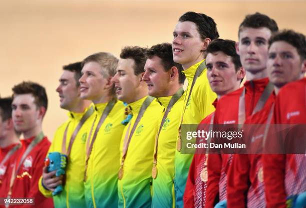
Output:
<path fill-rule="evenodd" d="M 55 176 L 60 176 L 65 174 L 65 169 L 67 166 L 67 156 L 59 152 L 49 152 L 47 158 L 44 160 L 45 166 L 47 166 L 47 171 L 51 172 L 56 170 Z M 57 185 L 52 195 L 56 195 L 62 191 L 62 185 Z"/>

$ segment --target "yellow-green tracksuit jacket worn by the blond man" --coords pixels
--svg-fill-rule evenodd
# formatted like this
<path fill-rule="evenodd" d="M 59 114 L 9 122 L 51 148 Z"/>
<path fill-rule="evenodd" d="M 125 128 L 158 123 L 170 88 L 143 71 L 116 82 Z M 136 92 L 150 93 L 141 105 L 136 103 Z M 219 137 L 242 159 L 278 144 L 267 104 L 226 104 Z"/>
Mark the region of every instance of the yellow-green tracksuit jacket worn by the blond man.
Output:
<path fill-rule="evenodd" d="M 95 105 L 96 119 L 91 133 L 94 130 L 107 103 Z M 124 105 L 117 101 L 101 125 L 89 156 L 85 186 L 85 200 L 88 207 L 117 207 L 118 192 L 117 180 L 120 167 L 119 145 L 124 125 Z M 94 117 L 89 121 L 91 124 Z"/>

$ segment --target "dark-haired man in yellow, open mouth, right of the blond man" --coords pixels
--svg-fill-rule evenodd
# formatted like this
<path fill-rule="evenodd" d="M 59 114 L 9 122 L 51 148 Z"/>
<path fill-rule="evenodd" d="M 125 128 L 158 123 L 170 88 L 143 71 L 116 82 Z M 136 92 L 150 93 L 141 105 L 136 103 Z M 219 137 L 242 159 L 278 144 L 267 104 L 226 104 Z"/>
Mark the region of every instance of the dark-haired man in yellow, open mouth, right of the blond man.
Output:
<path fill-rule="evenodd" d="M 154 139 L 163 109 L 147 96 L 142 80 L 145 61 L 145 49 L 123 48 L 112 78 L 118 99 L 128 104 L 127 113 L 132 115 L 120 144 L 118 207 L 151 207 Z"/>

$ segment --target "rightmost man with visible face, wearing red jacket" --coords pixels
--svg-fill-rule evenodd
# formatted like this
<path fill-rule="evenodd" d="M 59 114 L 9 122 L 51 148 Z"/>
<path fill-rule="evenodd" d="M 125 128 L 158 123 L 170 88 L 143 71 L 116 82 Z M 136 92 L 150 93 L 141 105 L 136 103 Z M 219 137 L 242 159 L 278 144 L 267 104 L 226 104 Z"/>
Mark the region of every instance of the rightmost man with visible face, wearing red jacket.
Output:
<path fill-rule="evenodd" d="M 267 72 L 270 82 L 274 86 L 274 92 L 277 93 L 279 88 L 288 82 L 298 80 L 303 76 L 303 70 L 299 63 L 300 60 L 296 59 L 298 54 L 293 46 L 279 39 L 291 40 L 296 39 L 294 32 L 282 32 L 273 36 L 269 42 L 269 52 L 267 61 Z M 295 51 L 294 51 L 295 50 Z M 294 54 L 295 52 L 295 54 Z M 287 59 L 285 54 L 295 55 L 294 59 Z M 292 65 L 293 63 L 293 65 Z M 277 72 L 277 73 L 275 73 Z M 271 94 L 271 98 L 266 102 L 263 109 L 258 113 L 250 116 L 245 124 L 264 124 L 270 123 L 272 120 L 273 105 L 275 100 L 275 93 Z M 261 128 L 262 127 L 262 128 Z M 252 147 L 262 147 L 264 131 L 266 127 L 264 125 L 255 126 L 255 130 L 251 135 Z M 265 135 L 266 138 L 266 135 Z M 267 141 L 268 142 L 268 141 Z M 261 149 L 263 150 L 263 149 Z M 228 206 L 232 207 L 265 207 L 264 196 L 264 180 L 263 180 L 263 167 L 262 167 L 262 154 L 248 155 L 234 155 L 232 165 L 228 173 Z M 268 177 L 274 177 L 275 175 L 264 174 Z M 250 185 L 249 185 L 250 183 Z M 266 191 L 270 193 L 271 191 Z"/>

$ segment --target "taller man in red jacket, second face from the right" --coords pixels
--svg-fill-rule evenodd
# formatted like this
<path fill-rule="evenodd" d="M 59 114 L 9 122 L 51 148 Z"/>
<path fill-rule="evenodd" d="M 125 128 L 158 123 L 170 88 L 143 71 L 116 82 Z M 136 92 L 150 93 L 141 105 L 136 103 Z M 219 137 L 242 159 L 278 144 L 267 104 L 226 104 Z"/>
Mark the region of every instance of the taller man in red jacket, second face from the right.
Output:
<path fill-rule="evenodd" d="M 261 110 L 265 102 L 269 102 L 273 88 L 266 78 L 267 42 L 272 32 L 277 30 L 274 20 L 259 13 L 246 16 L 240 24 L 236 50 L 246 70 L 247 81 L 244 87 L 219 99 L 214 124 L 243 124 L 249 116 Z M 232 154 L 208 156 L 206 207 L 213 207 L 218 201 L 216 207 L 226 204 L 227 173 L 231 161 Z"/>

